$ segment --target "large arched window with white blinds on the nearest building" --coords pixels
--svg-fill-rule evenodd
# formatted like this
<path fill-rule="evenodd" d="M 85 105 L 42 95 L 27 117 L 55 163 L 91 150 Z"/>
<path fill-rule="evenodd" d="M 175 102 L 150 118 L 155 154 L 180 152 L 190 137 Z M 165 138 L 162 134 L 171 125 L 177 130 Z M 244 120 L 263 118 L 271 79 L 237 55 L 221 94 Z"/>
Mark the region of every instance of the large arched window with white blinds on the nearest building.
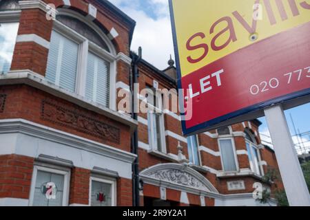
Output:
<path fill-rule="evenodd" d="M 59 10 L 50 40 L 45 78 L 50 83 L 111 107 L 115 49 L 94 23 L 70 10 Z"/>

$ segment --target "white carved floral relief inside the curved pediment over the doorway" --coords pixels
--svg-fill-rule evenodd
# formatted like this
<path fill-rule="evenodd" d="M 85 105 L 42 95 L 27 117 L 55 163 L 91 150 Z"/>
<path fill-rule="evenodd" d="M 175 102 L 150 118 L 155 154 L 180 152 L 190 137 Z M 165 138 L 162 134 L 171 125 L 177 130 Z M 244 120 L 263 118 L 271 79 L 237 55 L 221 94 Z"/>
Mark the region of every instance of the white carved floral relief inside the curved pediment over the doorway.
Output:
<path fill-rule="evenodd" d="M 154 177 L 162 181 L 169 181 L 183 186 L 190 186 L 194 188 L 207 190 L 207 188 L 200 180 L 196 179 L 192 175 L 189 175 L 189 173 L 186 173 L 183 170 L 176 170 L 176 169 L 156 170 L 150 173 L 149 177 Z"/>

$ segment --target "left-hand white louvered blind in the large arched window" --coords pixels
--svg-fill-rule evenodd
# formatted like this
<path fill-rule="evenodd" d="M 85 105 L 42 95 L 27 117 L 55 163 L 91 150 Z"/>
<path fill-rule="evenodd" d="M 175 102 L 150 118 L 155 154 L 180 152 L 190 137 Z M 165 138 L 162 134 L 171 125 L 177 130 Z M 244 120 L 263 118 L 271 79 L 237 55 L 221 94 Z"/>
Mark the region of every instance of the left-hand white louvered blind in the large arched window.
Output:
<path fill-rule="evenodd" d="M 78 56 L 79 44 L 53 31 L 45 78 L 63 89 L 74 92 Z"/>

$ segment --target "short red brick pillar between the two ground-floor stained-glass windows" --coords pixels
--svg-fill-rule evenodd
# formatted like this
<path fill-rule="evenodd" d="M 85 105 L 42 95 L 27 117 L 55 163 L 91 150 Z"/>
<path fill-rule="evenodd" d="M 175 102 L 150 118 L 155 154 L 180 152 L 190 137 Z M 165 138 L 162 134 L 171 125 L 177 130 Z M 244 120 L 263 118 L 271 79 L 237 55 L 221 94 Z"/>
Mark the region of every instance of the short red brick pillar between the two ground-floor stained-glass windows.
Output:
<path fill-rule="evenodd" d="M 88 205 L 90 198 L 90 170 L 72 168 L 70 204 Z"/>

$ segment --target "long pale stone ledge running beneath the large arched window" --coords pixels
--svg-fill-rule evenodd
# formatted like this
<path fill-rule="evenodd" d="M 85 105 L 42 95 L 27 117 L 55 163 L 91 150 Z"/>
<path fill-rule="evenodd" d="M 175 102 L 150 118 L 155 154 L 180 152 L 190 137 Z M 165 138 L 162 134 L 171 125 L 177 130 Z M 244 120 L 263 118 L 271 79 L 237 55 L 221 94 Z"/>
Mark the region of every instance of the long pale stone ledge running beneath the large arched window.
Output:
<path fill-rule="evenodd" d="M 94 111 L 101 115 L 105 115 L 107 118 L 111 118 L 117 122 L 121 122 L 130 126 L 130 131 L 133 132 L 138 122 L 132 119 L 129 115 L 124 113 L 119 113 L 118 111 L 113 111 L 107 107 L 103 107 L 100 104 L 96 104 L 94 102 L 90 102 L 89 100 L 83 98 L 82 96 L 76 95 L 67 91 L 65 89 L 61 89 L 52 83 L 48 83 L 43 76 L 40 74 L 34 73 L 29 69 L 26 70 L 18 70 L 11 71 L 8 74 L 0 75 L 0 85 L 17 85 L 17 84 L 25 84 L 30 85 L 31 87 L 35 87 L 42 91 L 45 91 L 53 96 L 57 96 L 59 98 L 63 98 L 64 100 L 68 100 L 69 102 L 73 102 L 74 104 L 79 105 L 85 109 L 90 111 Z"/>

